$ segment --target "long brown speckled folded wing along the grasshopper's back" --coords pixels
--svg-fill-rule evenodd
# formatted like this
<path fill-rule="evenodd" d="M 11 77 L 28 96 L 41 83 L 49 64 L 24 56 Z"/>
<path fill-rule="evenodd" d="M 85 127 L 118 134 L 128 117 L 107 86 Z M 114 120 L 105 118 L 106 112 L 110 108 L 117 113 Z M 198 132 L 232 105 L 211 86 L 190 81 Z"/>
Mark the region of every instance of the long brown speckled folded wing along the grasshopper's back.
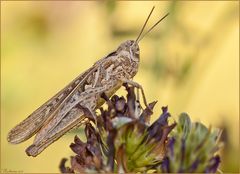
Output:
<path fill-rule="evenodd" d="M 9 133 L 7 140 L 10 143 L 18 144 L 30 137 L 41 129 L 48 121 L 52 119 L 53 113 L 61 106 L 65 99 L 71 95 L 74 90 L 81 86 L 86 80 L 88 74 L 96 69 L 95 66 L 85 71 L 74 79 L 69 85 L 40 106 L 36 111 L 29 115 L 25 120 L 15 126 Z"/>

